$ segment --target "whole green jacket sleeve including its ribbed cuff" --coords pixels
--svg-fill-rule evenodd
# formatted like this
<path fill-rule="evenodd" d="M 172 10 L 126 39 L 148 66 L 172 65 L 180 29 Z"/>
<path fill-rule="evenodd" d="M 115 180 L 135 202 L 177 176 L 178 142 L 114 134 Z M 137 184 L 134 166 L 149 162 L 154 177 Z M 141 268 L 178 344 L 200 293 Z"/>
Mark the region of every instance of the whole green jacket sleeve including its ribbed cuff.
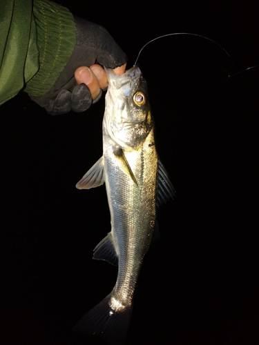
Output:
<path fill-rule="evenodd" d="M 48 0 L 0 0 L 0 105 L 23 89 L 46 93 L 73 52 L 73 15 Z"/>

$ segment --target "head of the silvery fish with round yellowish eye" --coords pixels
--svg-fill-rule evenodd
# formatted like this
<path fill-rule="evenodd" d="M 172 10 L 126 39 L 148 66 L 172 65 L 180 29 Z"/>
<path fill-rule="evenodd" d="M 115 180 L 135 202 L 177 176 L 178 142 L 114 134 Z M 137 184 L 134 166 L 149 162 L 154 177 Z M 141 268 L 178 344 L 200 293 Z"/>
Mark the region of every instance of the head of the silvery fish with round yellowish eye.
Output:
<path fill-rule="evenodd" d="M 137 66 L 121 76 L 106 68 L 106 74 L 104 122 L 108 135 L 120 148 L 137 150 L 153 127 L 146 80 Z"/>

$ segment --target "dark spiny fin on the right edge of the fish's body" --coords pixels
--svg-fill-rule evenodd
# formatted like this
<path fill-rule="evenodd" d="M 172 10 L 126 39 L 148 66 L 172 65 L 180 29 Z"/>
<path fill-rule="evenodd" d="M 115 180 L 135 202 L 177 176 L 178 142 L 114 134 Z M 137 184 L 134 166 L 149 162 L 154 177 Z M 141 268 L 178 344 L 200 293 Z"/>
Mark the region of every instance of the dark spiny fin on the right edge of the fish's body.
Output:
<path fill-rule="evenodd" d="M 157 174 L 157 207 L 170 198 L 175 197 L 175 188 L 170 181 L 170 177 L 160 159 L 158 159 L 158 174 Z"/>

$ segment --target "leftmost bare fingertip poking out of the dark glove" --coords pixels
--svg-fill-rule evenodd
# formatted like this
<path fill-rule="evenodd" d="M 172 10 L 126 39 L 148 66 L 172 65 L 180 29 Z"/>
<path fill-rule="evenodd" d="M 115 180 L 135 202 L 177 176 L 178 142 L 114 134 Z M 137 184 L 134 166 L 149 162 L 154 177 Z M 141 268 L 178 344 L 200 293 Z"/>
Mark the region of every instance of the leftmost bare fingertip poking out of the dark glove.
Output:
<path fill-rule="evenodd" d="M 75 79 L 77 83 L 85 83 L 92 96 L 93 101 L 97 99 L 100 93 L 99 81 L 95 74 L 86 66 L 81 66 L 75 70 Z"/>

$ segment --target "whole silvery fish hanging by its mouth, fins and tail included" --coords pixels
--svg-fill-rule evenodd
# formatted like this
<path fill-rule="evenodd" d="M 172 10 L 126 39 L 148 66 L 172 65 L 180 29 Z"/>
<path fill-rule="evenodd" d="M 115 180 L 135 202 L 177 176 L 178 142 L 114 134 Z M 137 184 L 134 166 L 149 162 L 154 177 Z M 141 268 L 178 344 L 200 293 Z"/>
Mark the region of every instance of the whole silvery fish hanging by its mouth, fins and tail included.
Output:
<path fill-rule="evenodd" d="M 111 291 L 73 328 L 99 334 L 108 344 L 124 344 L 133 310 L 137 277 L 152 241 L 160 237 L 157 208 L 175 190 L 155 144 L 155 123 L 146 80 L 138 66 L 115 75 L 105 68 L 108 90 L 103 119 L 103 155 L 77 183 L 89 189 L 105 183 L 111 232 L 93 259 L 118 266 Z"/>

